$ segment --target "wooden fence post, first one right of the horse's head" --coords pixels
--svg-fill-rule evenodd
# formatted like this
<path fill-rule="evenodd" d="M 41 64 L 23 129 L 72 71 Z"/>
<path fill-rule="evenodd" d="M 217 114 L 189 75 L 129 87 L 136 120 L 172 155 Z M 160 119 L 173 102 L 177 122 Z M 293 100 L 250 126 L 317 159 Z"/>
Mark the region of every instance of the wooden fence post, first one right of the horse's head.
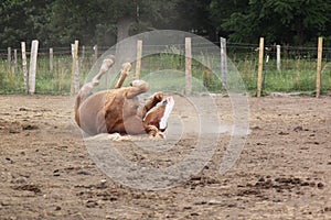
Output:
<path fill-rule="evenodd" d="M 191 37 L 185 37 L 185 95 L 192 92 L 192 48 Z"/>

